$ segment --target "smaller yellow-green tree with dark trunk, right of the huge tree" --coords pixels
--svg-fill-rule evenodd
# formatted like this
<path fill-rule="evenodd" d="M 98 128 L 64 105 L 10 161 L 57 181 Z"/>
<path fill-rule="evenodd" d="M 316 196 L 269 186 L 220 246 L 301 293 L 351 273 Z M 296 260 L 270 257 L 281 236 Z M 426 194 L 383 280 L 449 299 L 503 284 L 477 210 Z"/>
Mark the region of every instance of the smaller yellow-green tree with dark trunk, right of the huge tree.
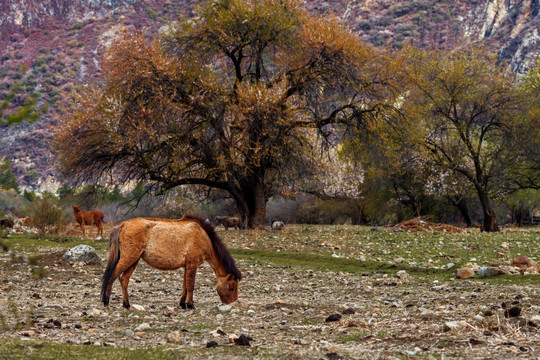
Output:
<path fill-rule="evenodd" d="M 412 87 L 404 112 L 425 129 L 426 155 L 474 187 L 484 229 L 497 231 L 493 197 L 506 191 L 517 165 L 522 108 L 515 74 L 478 48 L 409 55 Z"/>

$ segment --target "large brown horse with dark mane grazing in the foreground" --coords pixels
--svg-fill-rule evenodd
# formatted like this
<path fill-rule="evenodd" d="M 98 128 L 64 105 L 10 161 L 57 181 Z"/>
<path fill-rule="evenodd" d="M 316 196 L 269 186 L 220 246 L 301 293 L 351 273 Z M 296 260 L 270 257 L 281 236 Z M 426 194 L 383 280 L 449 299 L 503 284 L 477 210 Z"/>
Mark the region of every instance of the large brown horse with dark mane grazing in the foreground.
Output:
<path fill-rule="evenodd" d="M 189 215 L 180 220 L 135 218 L 118 225 L 109 239 L 109 261 L 103 274 L 101 300 L 105 306 L 114 281 L 122 275 L 123 305 L 129 309 L 129 278 L 141 258 L 160 270 L 184 268 L 183 309 L 194 308 L 195 273 L 205 261 L 214 270 L 221 301 L 230 304 L 238 299 L 242 273 L 214 227 L 203 219 Z"/>

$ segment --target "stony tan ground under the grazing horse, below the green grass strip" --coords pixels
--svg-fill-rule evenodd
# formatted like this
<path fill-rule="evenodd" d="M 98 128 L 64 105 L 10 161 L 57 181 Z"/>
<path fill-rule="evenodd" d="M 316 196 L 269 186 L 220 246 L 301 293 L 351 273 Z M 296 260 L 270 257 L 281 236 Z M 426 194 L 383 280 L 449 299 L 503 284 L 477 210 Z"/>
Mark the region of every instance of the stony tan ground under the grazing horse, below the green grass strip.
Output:
<path fill-rule="evenodd" d="M 105 247 L 98 248 L 105 259 Z M 205 265 L 197 274 L 196 309 L 182 310 L 182 270 L 161 272 L 141 262 L 129 285 L 134 306 L 125 310 L 118 282 L 110 307 L 99 301 L 104 265 L 70 264 L 64 251 L 37 246 L 0 255 L 0 348 L 13 357 L 13 349 L 29 357 L 29 349 L 51 344 L 80 344 L 81 352 L 151 348 L 157 357 L 188 359 L 539 357 L 538 282 L 314 271 L 238 259 L 245 278 L 236 303 L 221 306 Z M 244 346 L 235 344 L 242 334 Z M 217 347 L 207 347 L 212 341 Z"/>

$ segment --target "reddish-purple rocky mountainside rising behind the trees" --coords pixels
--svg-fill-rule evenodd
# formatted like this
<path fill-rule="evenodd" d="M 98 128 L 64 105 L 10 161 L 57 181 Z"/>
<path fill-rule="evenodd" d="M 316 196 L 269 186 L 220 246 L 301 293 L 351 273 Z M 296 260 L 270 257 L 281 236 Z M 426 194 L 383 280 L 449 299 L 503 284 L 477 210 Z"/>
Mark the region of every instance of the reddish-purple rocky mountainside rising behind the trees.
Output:
<path fill-rule="evenodd" d="M 0 101 L 21 87 L 7 113 L 29 96 L 43 111 L 32 124 L 0 128 L 0 157 L 13 162 L 21 185 L 54 190 L 50 150 L 54 126 L 69 113 L 70 94 L 100 75 L 100 61 L 122 30 L 151 34 L 194 0 L 0 0 Z M 364 41 L 399 48 L 454 49 L 485 43 L 517 72 L 540 48 L 540 0 L 305 0 L 314 13 L 332 13 Z M 28 71 L 21 72 L 26 66 Z M 36 180 L 35 171 L 39 173 Z M 29 173 L 32 176 L 29 176 Z"/>

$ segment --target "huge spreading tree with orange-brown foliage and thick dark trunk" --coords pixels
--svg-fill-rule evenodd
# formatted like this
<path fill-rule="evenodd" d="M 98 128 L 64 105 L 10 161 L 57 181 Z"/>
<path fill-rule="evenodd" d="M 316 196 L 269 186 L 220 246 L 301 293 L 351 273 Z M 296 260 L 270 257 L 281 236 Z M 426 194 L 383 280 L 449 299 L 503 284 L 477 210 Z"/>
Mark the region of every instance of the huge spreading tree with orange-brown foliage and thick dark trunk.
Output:
<path fill-rule="evenodd" d="M 314 134 L 385 106 L 386 73 L 372 48 L 296 0 L 204 2 L 156 40 L 112 46 L 103 85 L 59 129 L 60 168 L 79 182 L 220 189 L 257 227 L 274 184 L 317 171 Z"/>

